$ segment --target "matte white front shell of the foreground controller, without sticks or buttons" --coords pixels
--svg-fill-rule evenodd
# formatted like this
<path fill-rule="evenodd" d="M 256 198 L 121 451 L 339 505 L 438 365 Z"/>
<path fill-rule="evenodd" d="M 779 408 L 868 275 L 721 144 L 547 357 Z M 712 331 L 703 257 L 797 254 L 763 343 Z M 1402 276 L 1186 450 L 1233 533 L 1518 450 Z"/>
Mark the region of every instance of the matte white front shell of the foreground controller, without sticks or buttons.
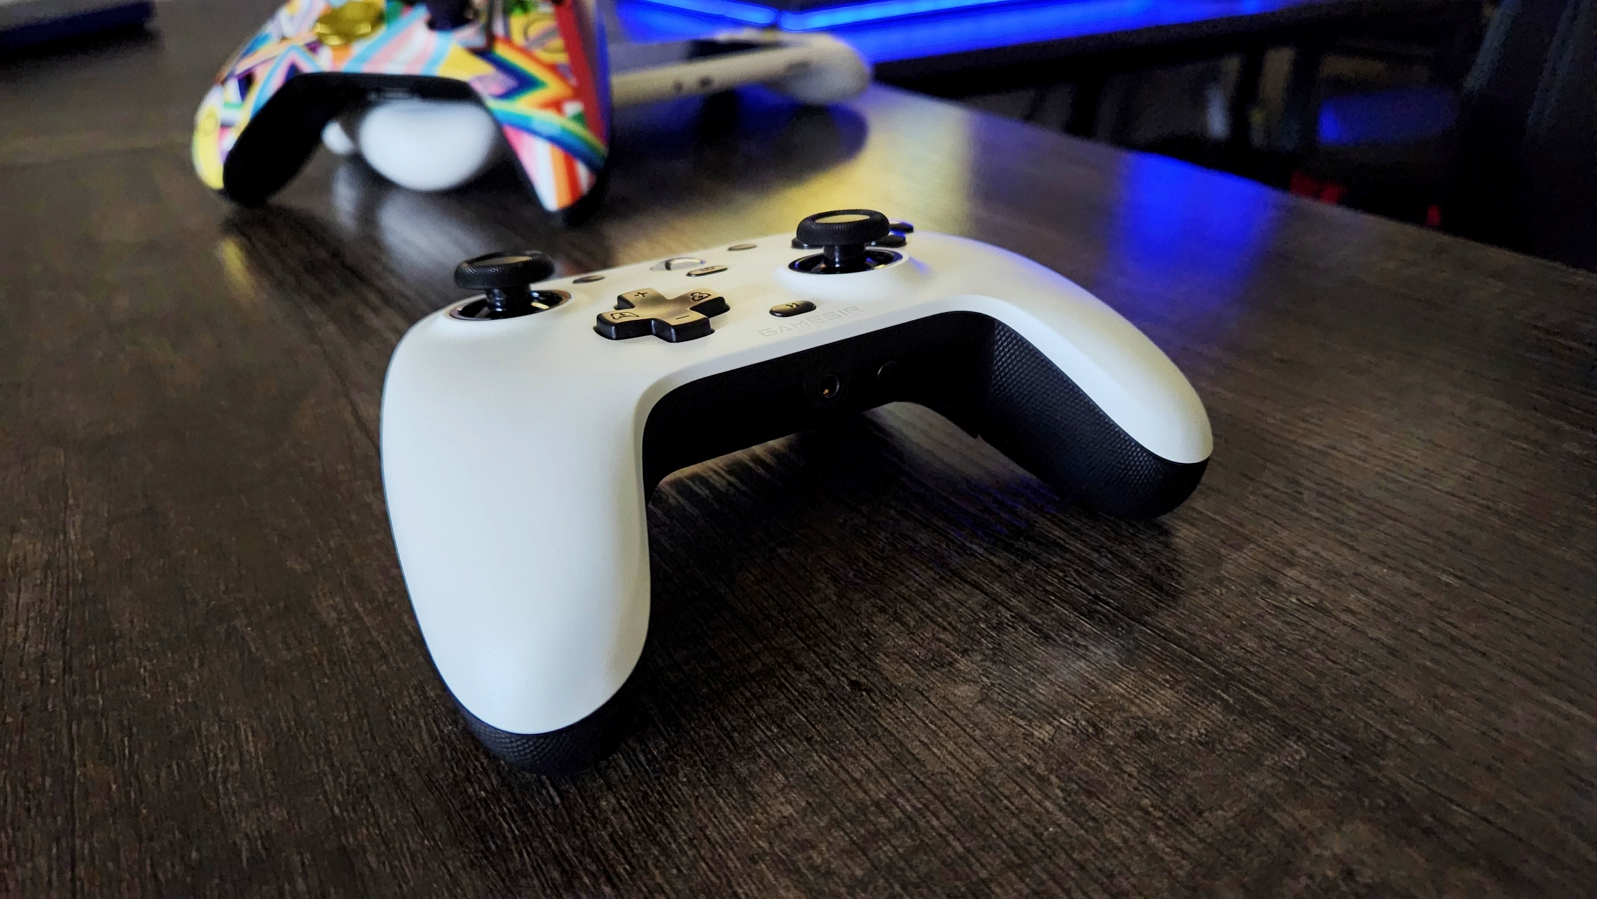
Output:
<path fill-rule="evenodd" d="M 455 698 L 489 725 L 546 733 L 626 680 L 648 626 L 642 434 L 650 409 L 706 375 L 947 311 L 1025 337 L 1131 438 L 1177 463 L 1209 458 L 1203 402 L 1147 337 L 1060 275 L 977 241 L 913 233 L 902 262 L 802 275 L 789 235 L 688 257 L 725 271 L 540 283 L 570 300 L 506 321 L 438 311 L 394 350 L 382 461 L 394 543 L 422 636 Z M 626 291 L 722 294 L 714 334 L 607 340 L 594 316 Z M 816 310 L 775 318 L 770 308 Z M 450 307 L 454 308 L 454 307 Z M 738 415 L 738 409 L 727 409 Z"/>

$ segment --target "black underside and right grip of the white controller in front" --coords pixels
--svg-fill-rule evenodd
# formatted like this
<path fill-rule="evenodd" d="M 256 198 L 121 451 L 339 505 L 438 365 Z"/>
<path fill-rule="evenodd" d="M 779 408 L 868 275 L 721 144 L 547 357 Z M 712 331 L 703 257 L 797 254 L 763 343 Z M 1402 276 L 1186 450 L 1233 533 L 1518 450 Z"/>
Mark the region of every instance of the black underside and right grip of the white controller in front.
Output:
<path fill-rule="evenodd" d="M 898 401 L 941 412 L 1118 517 L 1174 509 L 1207 466 L 1150 452 L 1003 323 L 944 313 L 679 386 L 644 428 L 644 484 L 653 490 L 679 468 Z"/>

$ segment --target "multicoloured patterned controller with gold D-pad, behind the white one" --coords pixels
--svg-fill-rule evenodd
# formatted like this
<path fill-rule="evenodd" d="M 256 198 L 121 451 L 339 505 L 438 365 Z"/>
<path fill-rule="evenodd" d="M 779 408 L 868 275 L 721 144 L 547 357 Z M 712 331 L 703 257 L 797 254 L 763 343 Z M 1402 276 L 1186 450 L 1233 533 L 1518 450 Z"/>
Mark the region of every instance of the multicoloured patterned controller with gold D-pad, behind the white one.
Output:
<path fill-rule="evenodd" d="M 596 0 L 289 0 L 200 104 L 195 171 L 256 206 L 345 109 L 470 99 L 493 115 L 543 208 L 572 216 L 604 174 L 608 78 Z"/>

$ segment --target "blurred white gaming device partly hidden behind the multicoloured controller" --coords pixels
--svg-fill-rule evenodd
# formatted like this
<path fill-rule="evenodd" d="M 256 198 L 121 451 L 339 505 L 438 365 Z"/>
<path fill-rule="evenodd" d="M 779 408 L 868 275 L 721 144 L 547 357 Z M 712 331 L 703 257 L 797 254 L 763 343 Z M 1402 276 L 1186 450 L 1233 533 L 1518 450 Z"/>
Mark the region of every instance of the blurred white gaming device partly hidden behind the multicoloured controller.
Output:
<path fill-rule="evenodd" d="M 738 30 L 674 43 L 610 48 L 610 97 L 618 107 L 767 85 L 798 102 L 824 105 L 859 96 L 870 65 L 824 34 Z M 359 153 L 388 180 L 410 190 L 452 190 L 505 153 L 498 123 L 478 102 L 388 99 L 327 123 L 323 144 Z"/>

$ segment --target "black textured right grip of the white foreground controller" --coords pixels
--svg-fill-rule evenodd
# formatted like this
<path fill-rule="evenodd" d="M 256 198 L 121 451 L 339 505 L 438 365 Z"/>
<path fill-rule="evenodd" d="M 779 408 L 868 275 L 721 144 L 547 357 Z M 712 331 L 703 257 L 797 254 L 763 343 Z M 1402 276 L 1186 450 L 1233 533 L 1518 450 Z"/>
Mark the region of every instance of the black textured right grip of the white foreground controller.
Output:
<path fill-rule="evenodd" d="M 993 323 L 982 438 L 1056 490 L 1116 517 L 1182 505 L 1209 460 L 1169 461 L 1115 423 L 1048 356 Z"/>

